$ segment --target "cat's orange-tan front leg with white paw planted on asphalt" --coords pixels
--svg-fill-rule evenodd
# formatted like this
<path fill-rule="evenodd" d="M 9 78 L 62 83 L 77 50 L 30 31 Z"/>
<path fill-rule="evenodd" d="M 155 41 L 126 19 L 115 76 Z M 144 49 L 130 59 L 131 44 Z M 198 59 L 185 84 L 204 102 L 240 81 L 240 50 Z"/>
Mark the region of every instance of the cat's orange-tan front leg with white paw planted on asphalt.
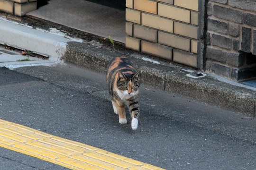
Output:
<path fill-rule="evenodd" d="M 116 114 L 119 116 L 119 123 L 120 124 L 127 124 L 126 114 L 125 114 L 125 105 L 124 103 L 112 99 L 113 108 Z"/>

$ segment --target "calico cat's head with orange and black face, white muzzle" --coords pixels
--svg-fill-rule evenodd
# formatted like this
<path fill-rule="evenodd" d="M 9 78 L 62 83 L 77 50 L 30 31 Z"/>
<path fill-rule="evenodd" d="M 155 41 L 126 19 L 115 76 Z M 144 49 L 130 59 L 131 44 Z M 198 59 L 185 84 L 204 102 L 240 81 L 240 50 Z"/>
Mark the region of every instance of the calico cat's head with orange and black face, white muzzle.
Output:
<path fill-rule="evenodd" d="M 117 87 L 120 92 L 125 95 L 137 95 L 139 87 L 139 73 L 125 76 L 122 72 L 118 72 Z"/>

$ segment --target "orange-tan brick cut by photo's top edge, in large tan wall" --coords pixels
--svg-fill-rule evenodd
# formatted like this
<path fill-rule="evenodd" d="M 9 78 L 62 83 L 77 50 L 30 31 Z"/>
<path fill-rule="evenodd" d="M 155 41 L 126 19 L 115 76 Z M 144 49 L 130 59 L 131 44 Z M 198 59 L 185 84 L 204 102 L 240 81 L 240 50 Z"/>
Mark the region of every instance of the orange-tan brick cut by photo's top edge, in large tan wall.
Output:
<path fill-rule="evenodd" d="M 151 0 L 134 0 L 134 8 L 137 10 L 157 14 L 157 3 Z"/>

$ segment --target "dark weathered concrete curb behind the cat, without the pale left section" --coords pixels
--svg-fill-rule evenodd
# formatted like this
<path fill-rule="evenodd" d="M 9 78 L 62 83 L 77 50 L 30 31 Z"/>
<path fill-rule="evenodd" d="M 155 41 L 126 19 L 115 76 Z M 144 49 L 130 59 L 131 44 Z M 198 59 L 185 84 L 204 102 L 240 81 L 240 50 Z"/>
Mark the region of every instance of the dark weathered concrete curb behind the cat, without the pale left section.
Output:
<path fill-rule="evenodd" d="M 143 55 L 127 54 L 125 51 L 113 52 L 111 48 L 96 48 L 90 43 L 68 42 L 62 59 L 105 74 L 109 60 L 120 55 L 129 56 L 137 64 L 141 71 L 141 83 L 144 85 L 239 111 L 249 117 L 256 116 L 256 91 L 221 82 L 210 76 L 193 79 L 185 76 L 188 72 L 181 67 L 154 64 L 143 60 Z"/>

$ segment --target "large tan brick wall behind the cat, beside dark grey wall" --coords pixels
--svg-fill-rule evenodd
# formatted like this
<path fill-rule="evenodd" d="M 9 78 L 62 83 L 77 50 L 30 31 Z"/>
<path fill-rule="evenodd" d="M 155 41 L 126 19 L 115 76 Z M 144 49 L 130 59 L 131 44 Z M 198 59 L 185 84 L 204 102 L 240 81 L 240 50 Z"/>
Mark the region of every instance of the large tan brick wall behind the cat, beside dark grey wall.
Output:
<path fill-rule="evenodd" d="M 200 0 L 126 0 L 126 47 L 194 68 Z"/>

